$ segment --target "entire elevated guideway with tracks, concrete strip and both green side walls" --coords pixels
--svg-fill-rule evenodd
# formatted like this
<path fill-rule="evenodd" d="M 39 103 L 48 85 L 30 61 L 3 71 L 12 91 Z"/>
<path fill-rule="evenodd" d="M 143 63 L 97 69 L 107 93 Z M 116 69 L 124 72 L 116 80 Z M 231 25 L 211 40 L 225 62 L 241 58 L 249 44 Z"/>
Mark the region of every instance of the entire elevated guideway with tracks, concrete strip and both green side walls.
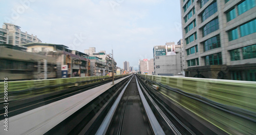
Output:
<path fill-rule="evenodd" d="M 1 134 L 256 133 L 255 82 L 133 74 L 111 80 L 10 81 Z"/>

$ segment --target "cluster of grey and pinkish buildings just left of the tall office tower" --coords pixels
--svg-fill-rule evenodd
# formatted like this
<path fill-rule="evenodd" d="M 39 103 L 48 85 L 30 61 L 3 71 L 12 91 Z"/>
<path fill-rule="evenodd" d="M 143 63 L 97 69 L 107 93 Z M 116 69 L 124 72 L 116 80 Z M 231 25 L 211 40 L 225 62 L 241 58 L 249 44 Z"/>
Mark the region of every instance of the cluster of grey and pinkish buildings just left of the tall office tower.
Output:
<path fill-rule="evenodd" d="M 154 46 L 153 59 L 139 60 L 139 73 L 145 75 L 184 76 L 183 42 Z"/>

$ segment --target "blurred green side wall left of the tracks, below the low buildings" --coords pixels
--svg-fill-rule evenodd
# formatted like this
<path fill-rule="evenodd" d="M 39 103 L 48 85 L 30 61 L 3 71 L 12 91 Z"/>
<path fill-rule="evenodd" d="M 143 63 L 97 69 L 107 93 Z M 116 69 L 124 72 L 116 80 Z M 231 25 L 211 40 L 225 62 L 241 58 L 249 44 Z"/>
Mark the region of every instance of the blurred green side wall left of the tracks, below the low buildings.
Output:
<path fill-rule="evenodd" d="M 115 78 L 127 75 L 116 75 Z M 109 76 L 92 76 L 92 77 L 73 77 L 44 80 L 26 80 L 26 81 L 8 81 L 9 101 L 34 97 L 42 94 L 62 91 L 73 86 L 82 86 L 111 80 Z M 0 87 L 4 87 L 4 82 L 0 82 Z M 0 97 L 4 97 L 4 91 L 0 91 Z"/>

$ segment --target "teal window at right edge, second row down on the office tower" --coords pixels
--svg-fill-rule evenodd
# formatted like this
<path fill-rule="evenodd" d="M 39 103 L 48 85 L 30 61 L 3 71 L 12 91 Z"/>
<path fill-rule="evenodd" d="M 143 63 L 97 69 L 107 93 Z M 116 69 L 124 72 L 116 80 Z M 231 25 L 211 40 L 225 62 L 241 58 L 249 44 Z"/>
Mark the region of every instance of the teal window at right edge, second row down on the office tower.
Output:
<path fill-rule="evenodd" d="M 256 19 L 240 26 L 241 37 L 255 33 L 256 32 Z"/>

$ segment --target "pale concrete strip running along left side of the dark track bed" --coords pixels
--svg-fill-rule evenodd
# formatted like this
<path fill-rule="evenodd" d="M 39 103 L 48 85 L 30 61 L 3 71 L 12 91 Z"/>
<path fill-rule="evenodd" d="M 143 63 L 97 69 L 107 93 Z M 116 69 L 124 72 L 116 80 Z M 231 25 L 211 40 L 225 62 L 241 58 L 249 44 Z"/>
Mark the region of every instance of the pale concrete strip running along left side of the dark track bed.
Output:
<path fill-rule="evenodd" d="M 116 80 L 115 84 L 127 77 Z M 112 86 L 112 82 L 109 82 L 86 92 L 10 117 L 8 118 L 8 131 L 4 130 L 4 120 L 2 120 L 0 126 L 3 128 L 0 128 L 0 132 L 3 135 L 44 134 Z"/>

